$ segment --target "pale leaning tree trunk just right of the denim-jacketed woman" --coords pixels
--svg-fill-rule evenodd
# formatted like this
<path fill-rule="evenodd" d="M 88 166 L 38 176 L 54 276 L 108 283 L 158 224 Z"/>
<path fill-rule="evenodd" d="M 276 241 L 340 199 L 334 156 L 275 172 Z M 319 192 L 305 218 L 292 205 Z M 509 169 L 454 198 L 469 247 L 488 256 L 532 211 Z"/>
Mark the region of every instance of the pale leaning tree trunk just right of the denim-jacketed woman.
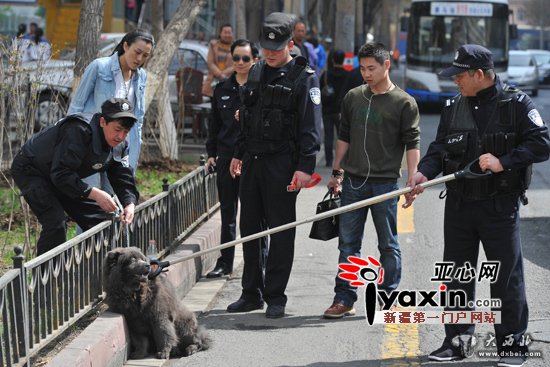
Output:
<path fill-rule="evenodd" d="M 163 158 L 177 159 L 177 134 L 174 126 L 174 117 L 170 107 L 170 99 L 167 98 L 168 66 L 179 44 L 184 39 L 187 31 L 195 21 L 204 0 L 183 0 L 176 10 L 174 17 L 166 26 L 160 36 L 155 51 L 147 63 L 147 86 L 145 88 L 145 111 L 149 109 L 153 96 L 158 96 L 160 91 L 165 92 L 159 99 L 159 109 L 164 109 L 163 118 L 159 120 L 161 156 Z M 164 143 L 166 142 L 166 144 Z"/>

